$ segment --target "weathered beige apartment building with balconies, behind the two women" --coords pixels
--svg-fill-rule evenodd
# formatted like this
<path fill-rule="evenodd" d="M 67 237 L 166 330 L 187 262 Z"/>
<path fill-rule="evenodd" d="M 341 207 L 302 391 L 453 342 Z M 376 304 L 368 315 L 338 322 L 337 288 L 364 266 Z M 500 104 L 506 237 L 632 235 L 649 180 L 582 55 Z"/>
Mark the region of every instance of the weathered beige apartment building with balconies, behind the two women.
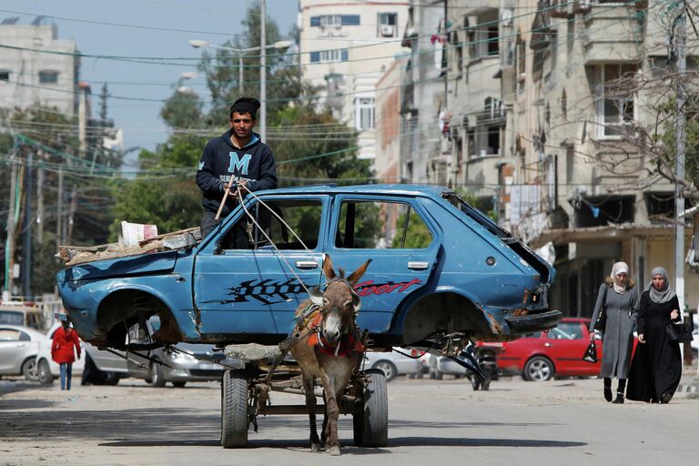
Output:
<path fill-rule="evenodd" d="M 638 86 L 670 65 L 664 3 L 449 5 L 450 181 L 494 197 L 504 228 L 554 251 L 552 305 L 589 316 L 616 260 L 642 286 L 653 267 L 672 274 L 674 185 L 637 137 L 672 96 Z M 694 308 L 699 277 L 686 272 Z"/>

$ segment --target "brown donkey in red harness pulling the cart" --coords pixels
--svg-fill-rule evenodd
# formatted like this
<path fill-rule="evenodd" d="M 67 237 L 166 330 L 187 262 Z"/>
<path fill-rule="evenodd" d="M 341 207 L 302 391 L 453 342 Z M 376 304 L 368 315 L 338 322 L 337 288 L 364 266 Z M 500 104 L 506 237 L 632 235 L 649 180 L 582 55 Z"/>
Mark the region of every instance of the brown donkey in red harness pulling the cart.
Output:
<path fill-rule="evenodd" d="M 347 279 L 344 271 L 335 274 L 330 257 L 326 255 L 323 271 L 328 285 L 322 294 L 312 292 L 311 299 L 303 301 L 296 310 L 299 319 L 294 334 L 299 339 L 291 347 L 291 354 L 299 363 L 306 408 L 310 420 L 310 450 L 320 451 L 322 444 L 316 430 L 315 380 L 319 379 L 325 398 L 325 418 L 322 439 L 326 451 L 339 455 L 338 397 L 357 369 L 364 354 L 361 335 L 355 322 L 360 311 L 360 297 L 354 285 L 369 267 L 371 259 L 352 272 Z"/>

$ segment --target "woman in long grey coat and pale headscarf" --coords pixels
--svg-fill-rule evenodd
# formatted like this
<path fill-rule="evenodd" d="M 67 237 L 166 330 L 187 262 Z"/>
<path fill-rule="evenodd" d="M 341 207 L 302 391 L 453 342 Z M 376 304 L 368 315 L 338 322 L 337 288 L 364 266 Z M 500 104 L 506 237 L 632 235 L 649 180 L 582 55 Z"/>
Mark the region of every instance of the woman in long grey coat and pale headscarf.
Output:
<path fill-rule="evenodd" d="M 631 365 L 633 352 L 633 328 L 638 312 L 638 290 L 629 279 L 629 266 L 617 262 L 612 274 L 600 285 L 597 303 L 594 305 L 593 320 L 590 322 L 590 338 L 594 338 L 594 324 L 602 309 L 606 313 L 606 324 L 602 337 L 602 370 L 604 378 L 604 400 L 612 401 L 612 379 L 619 380 L 616 399 L 623 403 L 623 391 Z"/>

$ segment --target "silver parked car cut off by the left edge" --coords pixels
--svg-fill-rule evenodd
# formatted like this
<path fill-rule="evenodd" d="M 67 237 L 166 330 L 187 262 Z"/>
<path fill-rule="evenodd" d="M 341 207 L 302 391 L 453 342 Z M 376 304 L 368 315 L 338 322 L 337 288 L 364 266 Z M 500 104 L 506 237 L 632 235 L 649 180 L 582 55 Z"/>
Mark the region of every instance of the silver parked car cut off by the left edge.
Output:
<path fill-rule="evenodd" d="M 0 325 L 0 376 L 36 380 L 36 354 L 44 334 L 21 325 Z"/>

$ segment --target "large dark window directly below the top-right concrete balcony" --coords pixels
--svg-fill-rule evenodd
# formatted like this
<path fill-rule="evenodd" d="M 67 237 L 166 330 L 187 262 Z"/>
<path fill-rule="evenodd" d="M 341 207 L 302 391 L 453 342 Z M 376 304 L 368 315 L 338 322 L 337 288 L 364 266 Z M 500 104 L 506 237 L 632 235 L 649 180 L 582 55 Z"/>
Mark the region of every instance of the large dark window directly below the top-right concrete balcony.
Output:
<path fill-rule="evenodd" d="M 636 66 L 615 63 L 597 67 L 597 118 L 600 137 L 622 134 L 624 124 L 633 121 L 633 78 Z"/>

